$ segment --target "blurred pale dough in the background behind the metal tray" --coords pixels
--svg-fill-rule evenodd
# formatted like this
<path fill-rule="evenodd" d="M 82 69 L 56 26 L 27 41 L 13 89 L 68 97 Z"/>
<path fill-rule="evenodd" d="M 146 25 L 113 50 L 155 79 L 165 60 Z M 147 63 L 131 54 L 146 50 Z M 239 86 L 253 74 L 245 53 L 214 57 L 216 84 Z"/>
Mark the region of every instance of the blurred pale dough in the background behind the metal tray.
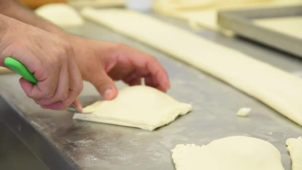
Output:
<path fill-rule="evenodd" d="M 193 25 L 201 25 L 215 31 L 231 35 L 230 30 L 221 28 L 217 23 L 219 10 L 243 9 L 251 7 L 279 7 L 301 5 L 302 0 L 190 0 L 189 2 L 175 3 L 175 0 L 158 0 L 155 11 L 162 15 L 186 20 Z M 180 0 L 185 1 L 185 0 Z M 198 3 L 199 5 L 191 5 Z"/>

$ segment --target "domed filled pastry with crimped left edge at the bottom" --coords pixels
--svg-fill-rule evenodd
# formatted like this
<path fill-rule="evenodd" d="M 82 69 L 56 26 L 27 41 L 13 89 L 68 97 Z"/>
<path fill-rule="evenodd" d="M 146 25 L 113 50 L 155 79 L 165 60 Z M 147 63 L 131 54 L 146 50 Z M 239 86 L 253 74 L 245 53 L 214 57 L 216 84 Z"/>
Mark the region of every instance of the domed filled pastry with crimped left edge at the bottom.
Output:
<path fill-rule="evenodd" d="M 277 148 L 245 136 L 218 139 L 203 146 L 176 145 L 172 152 L 176 170 L 284 170 Z"/>

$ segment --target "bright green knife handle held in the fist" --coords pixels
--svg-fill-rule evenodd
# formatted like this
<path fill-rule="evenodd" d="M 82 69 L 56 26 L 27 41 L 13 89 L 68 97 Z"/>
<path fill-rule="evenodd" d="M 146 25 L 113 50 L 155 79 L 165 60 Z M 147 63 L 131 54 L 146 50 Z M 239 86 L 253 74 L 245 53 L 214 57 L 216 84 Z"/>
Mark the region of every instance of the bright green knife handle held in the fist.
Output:
<path fill-rule="evenodd" d="M 28 82 L 30 82 L 34 85 L 36 85 L 38 83 L 35 76 L 32 73 L 30 73 L 30 71 L 22 63 L 18 62 L 17 60 L 15 60 L 11 57 L 6 57 L 4 59 L 4 64 L 9 69 L 16 72 L 20 76 L 22 76 Z"/>

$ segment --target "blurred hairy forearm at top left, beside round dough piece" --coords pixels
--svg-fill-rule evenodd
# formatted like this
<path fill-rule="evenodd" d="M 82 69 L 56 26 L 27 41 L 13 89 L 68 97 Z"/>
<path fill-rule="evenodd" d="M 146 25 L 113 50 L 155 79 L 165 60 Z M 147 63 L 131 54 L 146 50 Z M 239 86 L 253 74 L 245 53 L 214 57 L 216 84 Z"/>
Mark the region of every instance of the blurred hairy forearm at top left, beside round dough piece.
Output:
<path fill-rule="evenodd" d="M 30 9 L 15 0 L 0 0 L 0 13 L 60 36 L 65 36 L 65 32 L 61 28 L 35 15 Z"/>

